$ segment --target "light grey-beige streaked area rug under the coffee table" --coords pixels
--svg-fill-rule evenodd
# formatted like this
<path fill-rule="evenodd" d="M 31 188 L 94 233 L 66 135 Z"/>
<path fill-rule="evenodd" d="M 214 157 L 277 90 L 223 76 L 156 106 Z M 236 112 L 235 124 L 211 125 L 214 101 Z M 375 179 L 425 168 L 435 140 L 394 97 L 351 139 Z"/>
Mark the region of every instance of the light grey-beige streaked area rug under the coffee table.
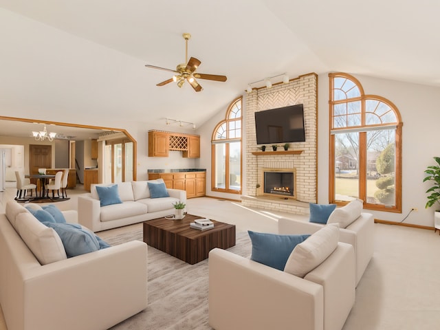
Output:
<path fill-rule="evenodd" d="M 142 230 L 107 238 L 111 245 L 142 241 Z M 236 234 L 228 251 L 249 257 L 252 244 L 247 232 Z M 130 303 L 130 302 L 126 302 Z M 112 330 L 211 330 L 208 325 L 208 259 L 190 265 L 148 247 L 148 307 L 115 325 Z"/>

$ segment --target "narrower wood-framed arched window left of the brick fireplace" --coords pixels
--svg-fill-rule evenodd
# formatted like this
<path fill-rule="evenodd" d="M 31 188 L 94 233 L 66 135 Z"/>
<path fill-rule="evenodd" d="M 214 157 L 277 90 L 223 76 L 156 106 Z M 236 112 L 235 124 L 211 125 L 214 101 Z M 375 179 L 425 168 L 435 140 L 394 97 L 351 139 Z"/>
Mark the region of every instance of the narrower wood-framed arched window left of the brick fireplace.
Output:
<path fill-rule="evenodd" d="M 212 132 L 212 190 L 241 194 L 241 105 L 232 101 Z"/>

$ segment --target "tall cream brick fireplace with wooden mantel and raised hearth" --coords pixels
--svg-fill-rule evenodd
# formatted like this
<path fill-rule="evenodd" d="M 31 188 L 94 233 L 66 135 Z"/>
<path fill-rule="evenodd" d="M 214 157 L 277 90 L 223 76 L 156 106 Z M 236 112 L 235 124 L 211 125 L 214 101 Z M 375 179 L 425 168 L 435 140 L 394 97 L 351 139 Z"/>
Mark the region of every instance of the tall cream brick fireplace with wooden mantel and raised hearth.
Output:
<path fill-rule="evenodd" d="M 281 210 L 307 214 L 309 203 L 317 200 L 317 131 L 318 76 L 305 74 L 288 84 L 265 87 L 247 94 L 246 114 L 246 182 L 243 206 L 264 210 Z M 290 144 L 289 151 L 259 151 L 256 144 L 254 113 L 267 109 L 304 104 L 305 142 Z M 294 173 L 294 195 L 264 192 L 264 169 Z M 286 198 L 287 197 L 287 198 Z"/>

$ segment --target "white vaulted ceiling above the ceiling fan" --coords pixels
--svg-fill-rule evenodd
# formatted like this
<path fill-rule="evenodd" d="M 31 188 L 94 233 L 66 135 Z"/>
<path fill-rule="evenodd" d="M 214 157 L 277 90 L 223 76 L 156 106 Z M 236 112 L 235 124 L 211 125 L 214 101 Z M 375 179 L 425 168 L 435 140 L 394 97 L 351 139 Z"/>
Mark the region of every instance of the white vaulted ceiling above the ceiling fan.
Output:
<path fill-rule="evenodd" d="M 248 83 L 284 72 L 440 87 L 439 12 L 430 0 L 0 0 L 0 107 L 200 126 Z M 227 82 L 155 86 L 172 74 L 144 65 L 183 63 L 183 32 L 197 72 Z"/>

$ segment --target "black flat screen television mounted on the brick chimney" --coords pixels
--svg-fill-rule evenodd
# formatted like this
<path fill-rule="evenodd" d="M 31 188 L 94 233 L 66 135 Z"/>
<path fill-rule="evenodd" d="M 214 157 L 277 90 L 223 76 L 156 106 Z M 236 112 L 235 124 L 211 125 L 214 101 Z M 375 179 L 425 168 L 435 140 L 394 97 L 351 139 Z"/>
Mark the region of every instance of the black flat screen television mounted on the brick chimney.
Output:
<path fill-rule="evenodd" d="M 303 104 L 255 113 L 256 144 L 305 142 Z"/>

